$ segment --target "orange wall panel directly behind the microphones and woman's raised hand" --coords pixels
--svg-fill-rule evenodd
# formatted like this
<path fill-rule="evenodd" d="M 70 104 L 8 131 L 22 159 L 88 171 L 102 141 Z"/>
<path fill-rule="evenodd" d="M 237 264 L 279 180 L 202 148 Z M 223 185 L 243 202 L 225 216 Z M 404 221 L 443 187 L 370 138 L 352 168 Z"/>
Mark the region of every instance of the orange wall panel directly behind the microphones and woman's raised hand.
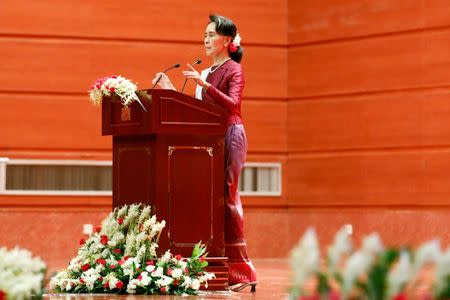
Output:
<path fill-rule="evenodd" d="M 0 91 L 85 93 L 95 79 L 111 74 L 121 74 L 139 88 L 150 88 L 157 72 L 177 62 L 184 69 L 185 63 L 201 53 L 201 44 L 0 38 L 0 56 L 8 61 L 0 65 Z M 265 72 L 261 61 L 271 62 L 270 72 Z M 284 85 L 267 84 L 286 82 L 286 62 L 282 48 L 247 47 L 245 96 L 286 97 Z M 202 68 L 209 65 L 207 60 Z M 181 72 L 172 70 L 170 75 L 180 88 Z"/>

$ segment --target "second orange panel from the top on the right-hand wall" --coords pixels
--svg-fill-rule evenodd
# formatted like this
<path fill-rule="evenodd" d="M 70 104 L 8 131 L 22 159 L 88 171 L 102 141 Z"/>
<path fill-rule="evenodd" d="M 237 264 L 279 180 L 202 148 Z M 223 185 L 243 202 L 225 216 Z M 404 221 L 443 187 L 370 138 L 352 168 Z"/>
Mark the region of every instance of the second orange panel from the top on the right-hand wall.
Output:
<path fill-rule="evenodd" d="M 448 87 L 450 30 L 289 49 L 290 98 Z"/>

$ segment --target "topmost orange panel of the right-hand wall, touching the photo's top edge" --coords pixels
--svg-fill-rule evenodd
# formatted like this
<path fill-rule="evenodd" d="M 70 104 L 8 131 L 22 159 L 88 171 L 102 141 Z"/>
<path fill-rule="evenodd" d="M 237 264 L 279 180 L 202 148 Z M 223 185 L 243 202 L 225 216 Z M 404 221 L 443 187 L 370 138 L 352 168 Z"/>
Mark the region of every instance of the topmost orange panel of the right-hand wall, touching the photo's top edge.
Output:
<path fill-rule="evenodd" d="M 289 1 L 291 45 L 449 25 L 446 0 Z"/>

